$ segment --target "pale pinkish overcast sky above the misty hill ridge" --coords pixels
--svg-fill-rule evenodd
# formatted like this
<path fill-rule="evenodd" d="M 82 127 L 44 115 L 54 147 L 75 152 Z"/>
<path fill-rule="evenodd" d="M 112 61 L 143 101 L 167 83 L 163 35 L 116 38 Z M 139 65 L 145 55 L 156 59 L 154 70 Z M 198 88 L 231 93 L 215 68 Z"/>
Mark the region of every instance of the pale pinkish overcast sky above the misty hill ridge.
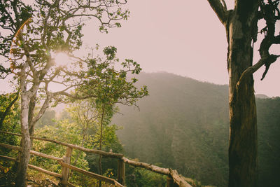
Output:
<path fill-rule="evenodd" d="M 232 8 L 234 1 L 227 1 Z M 120 59 L 138 62 L 145 72 L 167 71 L 216 84 L 228 84 L 225 28 L 207 0 L 130 0 L 130 18 L 121 28 L 99 32 L 97 22 L 83 29 L 85 46 L 116 46 Z M 280 24 L 276 25 L 278 31 Z M 258 43 L 254 63 L 258 62 Z M 272 51 L 280 55 L 280 45 Z M 264 67 L 255 74 L 255 93 L 280 96 L 280 59 L 260 81 Z M 0 88 L 7 87 L 0 81 Z"/>

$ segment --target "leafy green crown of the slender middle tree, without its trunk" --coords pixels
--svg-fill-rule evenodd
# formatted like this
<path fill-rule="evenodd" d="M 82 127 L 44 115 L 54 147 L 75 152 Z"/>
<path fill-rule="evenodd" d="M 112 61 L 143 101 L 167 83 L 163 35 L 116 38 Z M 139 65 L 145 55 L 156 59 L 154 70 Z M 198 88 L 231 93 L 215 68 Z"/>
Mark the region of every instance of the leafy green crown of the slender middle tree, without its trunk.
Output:
<path fill-rule="evenodd" d="M 137 80 L 127 78 L 127 74 L 139 74 L 140 65 L 133 60 L 118 64 L 116 51 L 114 46 L 109 46 L 104 48 L 104 59 L 97 57 L 87 60 L 87 80 L 80 88 L 85 94 L 95 96 L 94 102 L 98 107 L 102 108 L 102 104 L 106 104 L 106 113 L 109 113 L 116 103 L 134 105 L 139 98 L 148 95 L 146 86 L 137 89 L 134 86 Z M 116 69 L 115 66 L 119 65 L 120 68 Z"/>

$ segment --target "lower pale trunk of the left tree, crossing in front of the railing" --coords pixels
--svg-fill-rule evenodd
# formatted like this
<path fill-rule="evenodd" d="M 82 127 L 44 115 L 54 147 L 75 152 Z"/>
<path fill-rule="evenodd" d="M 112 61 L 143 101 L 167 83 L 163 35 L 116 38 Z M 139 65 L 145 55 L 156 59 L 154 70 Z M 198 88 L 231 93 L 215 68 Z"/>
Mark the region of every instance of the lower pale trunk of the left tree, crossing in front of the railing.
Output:
<path fill-rule="evenodd" d="M 27 92 L 22 92 L 21 97 L 21 129 L 22 129 L 22 152 L 20 153 L 20 162 L 18 164 L 18 172 L 15 179 L 15 186 L 25 186 L 27 167 L 30 158 L 30 136 L 28 130 L 28 111 L 29 102 Z"/>

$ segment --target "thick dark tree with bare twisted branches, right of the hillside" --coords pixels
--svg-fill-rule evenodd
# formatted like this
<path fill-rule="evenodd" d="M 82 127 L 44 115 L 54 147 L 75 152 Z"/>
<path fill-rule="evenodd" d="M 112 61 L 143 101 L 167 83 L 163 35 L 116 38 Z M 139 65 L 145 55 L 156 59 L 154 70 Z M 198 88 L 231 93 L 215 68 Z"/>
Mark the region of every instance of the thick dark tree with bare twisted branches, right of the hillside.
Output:
<path fill-rule="evenodd" d="M 265 78 L 277 55 L 269 53 L 272 44 L 280 44 L 275 24 L 280 20 L 279 0 L 237 0 L 228 10 L 225 1 L 208 0 L 225 26 L 228 40 L 230 105 L 229 186 L 258 186 L 257 120 L 253 73 L 265 65 Z M 260 43 L 260 60 L 253 64 L 253 43 L 258 37 L 258 20 L 266 25 Z"/>

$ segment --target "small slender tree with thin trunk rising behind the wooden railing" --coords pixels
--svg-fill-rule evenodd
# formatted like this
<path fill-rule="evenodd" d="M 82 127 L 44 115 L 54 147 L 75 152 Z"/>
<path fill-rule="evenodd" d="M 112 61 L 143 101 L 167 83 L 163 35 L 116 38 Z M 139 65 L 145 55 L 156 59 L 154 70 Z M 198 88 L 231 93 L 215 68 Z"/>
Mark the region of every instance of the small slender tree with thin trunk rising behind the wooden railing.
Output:
<path fill-rule="evenodd" d="M 99 57 L 90 60 L 88 76 L 96 74 L 99 84 L 88 82 L 83 85 L 83 90 L 86 95 L 96 95 L 94 99 L 89 100 L 97 109 L 99 119 L 99 150 L 102 150 L 104 125 L 111 122 L 114 113 L 115 105 L 136 105 L 137 99 L 148 95 L 146 86 L 137 90 L 134 83 L 137 82 L 136 78 L 127 81 L 127 74 L 139 74 L 141 68 L 137 62 L 126 59 L 122 63 L 123 69 L 117 71 L 114 68 L 114 62 L 119 62 L 116 57 L 117 49 L 114 46 L 104 48 L 103 52 L 106 55 L 104 60 Z M 131 64 L 134 69 L 131 69 Z M 93 86 L 93 88 L 92 88 Z M 102 174 L 102 155 L 99 155 L 99 174 Z M 101 181 L 99 182 L 101 186 Z"/>

